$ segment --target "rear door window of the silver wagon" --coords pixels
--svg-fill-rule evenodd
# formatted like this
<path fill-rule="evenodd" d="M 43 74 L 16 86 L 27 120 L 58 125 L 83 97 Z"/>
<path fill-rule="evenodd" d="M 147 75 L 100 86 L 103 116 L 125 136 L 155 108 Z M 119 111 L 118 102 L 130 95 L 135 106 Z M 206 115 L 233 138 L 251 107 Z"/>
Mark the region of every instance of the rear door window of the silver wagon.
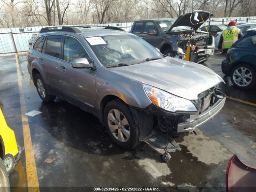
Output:
<path fill-rule="evenodd" d="M 42 52 L 60 58 L 61 35 L 49 35 L 44 43 Z"/>

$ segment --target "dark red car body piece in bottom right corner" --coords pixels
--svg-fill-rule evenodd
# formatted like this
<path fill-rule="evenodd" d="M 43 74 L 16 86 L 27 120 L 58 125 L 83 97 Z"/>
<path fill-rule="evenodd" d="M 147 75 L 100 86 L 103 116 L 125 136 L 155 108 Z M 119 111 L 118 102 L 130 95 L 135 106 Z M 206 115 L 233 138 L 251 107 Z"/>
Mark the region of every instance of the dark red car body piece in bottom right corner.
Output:
<path fill-rule="evenodd" d="M 226 170 L 226 192 L 256 192 L 256 167 L 242 163 L 234 154 Z"/>

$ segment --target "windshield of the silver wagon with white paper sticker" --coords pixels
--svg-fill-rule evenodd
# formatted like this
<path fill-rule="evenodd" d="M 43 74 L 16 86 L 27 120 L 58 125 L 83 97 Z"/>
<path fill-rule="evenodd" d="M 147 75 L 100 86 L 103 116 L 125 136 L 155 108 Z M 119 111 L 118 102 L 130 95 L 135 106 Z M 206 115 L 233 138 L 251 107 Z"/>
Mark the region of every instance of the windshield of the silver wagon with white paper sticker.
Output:
<path fill-rule="evenodd" d="M 107 35 L 85 38 L 102 65 L 136 64 L 148 58 L 162 58 L 153 46 L 134 35 Z"/>

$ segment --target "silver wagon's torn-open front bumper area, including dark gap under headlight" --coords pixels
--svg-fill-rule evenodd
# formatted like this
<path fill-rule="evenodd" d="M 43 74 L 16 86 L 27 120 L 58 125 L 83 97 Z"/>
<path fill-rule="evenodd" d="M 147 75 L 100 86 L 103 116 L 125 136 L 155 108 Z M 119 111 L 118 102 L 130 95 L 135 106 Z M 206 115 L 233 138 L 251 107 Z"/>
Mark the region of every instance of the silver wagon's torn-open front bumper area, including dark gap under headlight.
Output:
<path fill-rule="evenodd" d="M 143 118 L 136 121 L 150 121 L 146 126 L 147 130 L 152 130 L 150 125 L 153 124 L 154 128 L 162 130 L 162 132 L 167 132 L 168 130 L 170 135 L 175 135 L 183 132 L 191 132 L 206 123 L 220 112 L 225 104 L 225 100 L 226 95 L 218 90 L 193 101 L 198 109 L 197 112 L 169 112 L 154 104 L 151 104 L 143 110 L 134 109 L 132 111 L 134 111 L 135 118 L 138 116 L 138 114 L 135 114 L 135 111 L 140 111 L 141 114 L 145 114 Z M 141 121 L 141 119 L 144 119 L 144 121 Z M 167 122 L 171 122 L 172 126 L 167 125 Z M 147 136 L 147 134 L 143 134 L 143 136 Z"/>

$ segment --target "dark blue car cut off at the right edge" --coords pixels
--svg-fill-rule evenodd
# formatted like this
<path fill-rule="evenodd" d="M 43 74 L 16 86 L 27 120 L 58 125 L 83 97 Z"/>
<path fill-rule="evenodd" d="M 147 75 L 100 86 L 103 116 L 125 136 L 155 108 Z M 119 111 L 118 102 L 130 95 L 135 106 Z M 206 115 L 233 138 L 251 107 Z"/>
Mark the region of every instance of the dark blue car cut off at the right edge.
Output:
<path fill-rule="evenodd" d="M 221 64 L 234 86 L 251 89 L 256 84 L 256 30 L 249 30 L 228 50 Z"/>

